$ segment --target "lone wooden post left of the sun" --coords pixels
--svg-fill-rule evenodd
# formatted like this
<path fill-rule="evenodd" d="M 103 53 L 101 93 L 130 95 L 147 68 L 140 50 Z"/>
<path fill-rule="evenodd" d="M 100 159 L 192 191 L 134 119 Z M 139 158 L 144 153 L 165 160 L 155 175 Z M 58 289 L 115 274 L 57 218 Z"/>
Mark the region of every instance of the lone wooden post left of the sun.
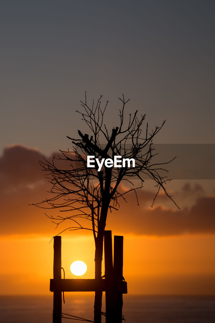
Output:
<path fill-rule="evenodd" d="M 61 236 L 54 237 L 54 281 L 61 281 Z M 61 323 L 62 313 L 62 292 L 54 291 L 53 293 L 53 323 Z"/>

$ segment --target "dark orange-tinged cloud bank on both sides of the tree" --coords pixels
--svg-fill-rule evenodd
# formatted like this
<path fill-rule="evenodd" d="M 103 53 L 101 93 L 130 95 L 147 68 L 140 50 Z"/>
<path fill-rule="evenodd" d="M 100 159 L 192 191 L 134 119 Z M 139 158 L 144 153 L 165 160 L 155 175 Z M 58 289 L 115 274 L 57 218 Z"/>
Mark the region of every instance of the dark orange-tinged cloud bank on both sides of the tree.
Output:
<path fill-rule="evenodd" d="M 51 157 L 49 157 L 51 158 Z M 55 225 L 44 215 L 44 210 L 28 204 L 48 197 L 50 184 L 38 163 L 42 155 L 35 149 L 21 145 L 6 147 L 0 158 L 1 234 L 57 234 Z M 121 201 L 119 211 L 108 215 L 107 228 L 123 233 L 146 235 L 215 234 L 215 197 L 203 196 L 202 188 L 186 184 L 181 194 L 193 198 L 191 207 L 174 210 L 164 207 L 167 198 L 160 194 L 156 205 L 150 208 L 154 193 L 138 191 L 140 206 L 134 193 L 127 202 Z M 52 213 L 53 214 L 53 213 Z"/>

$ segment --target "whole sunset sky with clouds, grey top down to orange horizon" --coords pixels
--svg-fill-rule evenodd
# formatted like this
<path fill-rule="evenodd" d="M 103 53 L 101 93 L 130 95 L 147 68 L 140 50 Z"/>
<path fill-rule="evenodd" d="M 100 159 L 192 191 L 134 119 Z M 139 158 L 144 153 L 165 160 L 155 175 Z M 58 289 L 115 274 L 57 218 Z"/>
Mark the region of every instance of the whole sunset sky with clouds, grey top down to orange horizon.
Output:
<path fill-rule="evenodd" d="M 55 230 L 44 210 L 28 204 L 48 196 L 42 155 L 72 149 L 66 136 L 87 131 L 75 112 L 85 91 L 89 102 L 100 94 L 102 104 L 109 101 L 108 129 L 118 126 L 123 93 L 130 98 L 125 113 L 146 113 L 150 129 L 167 119 L 155 143 L 215 144 L 214 10 L 214 1 L 199 0 L 1 5 L 1 295 L 50 293 L 49 242 L 65 227 Z M 205 172 L 213 149 L 197 156 Z M 186 160 L 182 166 L 189 171 Z M 214 178 L 197 173 L 170 182 L 180 210 L 163 193 L 151 208 L 156 190 L 146 180 L 140 206 L 130 193 L 108 215 L 107 229 L 124 235 L 128 293 L 214 294 Z M 62 234 L 66 278 L 75 277 L 75 260 L 87 264 L 83 278 L 94 278 L 92 234 Z"/>

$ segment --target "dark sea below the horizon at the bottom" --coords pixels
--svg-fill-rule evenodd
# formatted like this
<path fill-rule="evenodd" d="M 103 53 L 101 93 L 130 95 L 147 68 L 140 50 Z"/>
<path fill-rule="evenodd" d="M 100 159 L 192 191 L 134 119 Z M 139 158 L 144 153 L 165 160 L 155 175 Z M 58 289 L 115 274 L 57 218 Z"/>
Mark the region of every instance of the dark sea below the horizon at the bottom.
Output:
<path fill-rule="evenodd" d="M 93 303 L 93 295 L 65 293 L 62 322 L 81 322 L 80 318 L 93 321 Z M 102 310 L 105 312 L 105 308 Z M 0 296 L 1 323 L 52 323 L 52 311 L 51 293 L 50 296 Z M 214 323 L 215 296 L 124 295 L 123 316 L 127 323 Z"/>

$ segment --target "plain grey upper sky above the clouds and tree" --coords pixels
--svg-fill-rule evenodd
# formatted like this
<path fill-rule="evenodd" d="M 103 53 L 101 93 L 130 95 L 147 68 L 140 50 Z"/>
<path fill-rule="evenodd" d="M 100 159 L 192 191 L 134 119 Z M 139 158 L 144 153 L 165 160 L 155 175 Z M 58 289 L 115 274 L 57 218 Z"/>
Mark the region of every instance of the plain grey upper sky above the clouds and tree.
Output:
<path fill-rule="evenodd" d="M 214 1 L 4 1 L 0 151 L 19 143 L 48 154 L 84 131 L 84 99 L 118 96 L 127 112 L 167 119 L 157 143 L 215 143 Z"/>

